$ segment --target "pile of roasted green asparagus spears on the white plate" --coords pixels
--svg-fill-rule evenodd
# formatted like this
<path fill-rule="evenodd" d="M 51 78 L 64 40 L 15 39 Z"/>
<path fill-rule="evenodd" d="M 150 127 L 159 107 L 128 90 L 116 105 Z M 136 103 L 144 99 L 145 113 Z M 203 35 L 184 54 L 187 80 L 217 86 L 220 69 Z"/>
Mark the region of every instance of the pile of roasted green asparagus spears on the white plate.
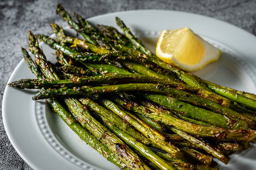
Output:
<path fill-rule="evenodd" d="M 9 83 L 40 89 L 53 110 L 87 144 L 121 169 L 215 170 L 213 158 L 256 142 L 256 96 L 217 85 L 159 60 L 116 18 L 93 27 L 57 6 L 84 39 L 51 24 L 55 38 L 29 32 L 23 56 L 37 79 Z M 56 49 L 49 62 L 37 38 Z"/>

